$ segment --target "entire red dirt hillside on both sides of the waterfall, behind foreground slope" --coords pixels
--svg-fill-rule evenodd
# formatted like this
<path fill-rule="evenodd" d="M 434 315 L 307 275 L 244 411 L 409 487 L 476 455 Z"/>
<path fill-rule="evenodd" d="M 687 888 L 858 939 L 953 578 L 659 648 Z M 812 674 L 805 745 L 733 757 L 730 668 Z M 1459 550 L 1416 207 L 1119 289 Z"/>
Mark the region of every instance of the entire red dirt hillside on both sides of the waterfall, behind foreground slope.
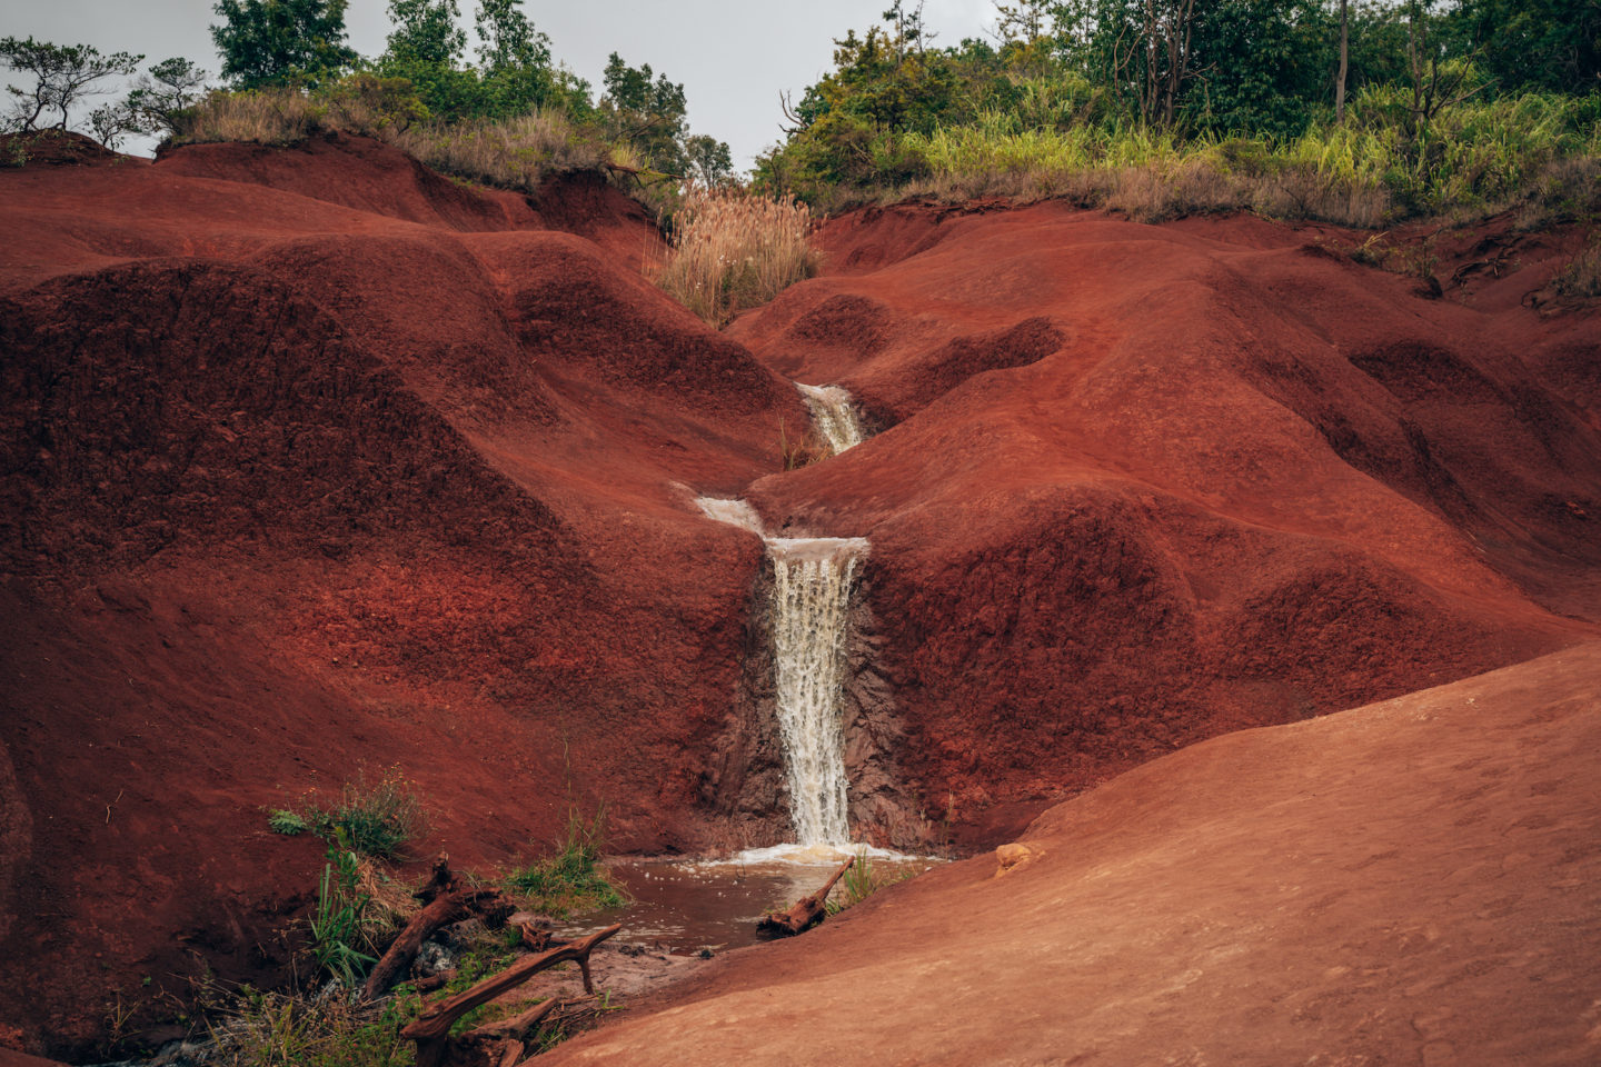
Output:
<path fill-rule="evenodd" d="M 259 808 L 359 766 L 464 867 L 568 797 L 618 849 L 778 833 L 778 797 L 719 795 L 760 547 L 700 493 L 873 537 L 905 800 L 868 835 L 994 845 L 1178 745 L 1598 632 L 1595 314 L 1513 294 L 1561 235 L 1428 301 L 1252 219 L 913 205 L 831 224 L 828 274 L 720 336 L 607 187 L 360 139 L 3 171 L 0 226 L 29 1051 L 91 1057 L 118 997 L 155 1040 L 203 969 L 272 981 L 320 853 Z M 773 474 L 789 378 L 885 432 Z"/>

